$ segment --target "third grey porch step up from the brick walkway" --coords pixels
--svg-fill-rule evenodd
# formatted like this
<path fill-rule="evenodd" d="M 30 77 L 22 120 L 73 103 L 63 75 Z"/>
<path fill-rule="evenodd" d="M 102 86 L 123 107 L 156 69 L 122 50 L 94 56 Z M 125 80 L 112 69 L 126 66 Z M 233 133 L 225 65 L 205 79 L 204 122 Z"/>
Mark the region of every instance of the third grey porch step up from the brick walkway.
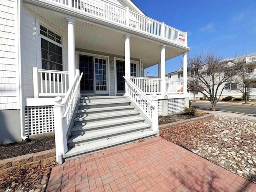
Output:
<path fill-rule="evenodd" d="M 71 128 L 71 132 L 74 135 L 84 134 L 85 132 L 93 132 L 98 129 L 108 129 L 112 127 L 124 126 L 125 124 L 139 124 L 143 123 L 145 118 L 143 117 L 132 117 L 124 118 L 122 121 L 117 120 L 108 120 L 104 122 L 95 122 L 89 124 L 80 124 Z"/>

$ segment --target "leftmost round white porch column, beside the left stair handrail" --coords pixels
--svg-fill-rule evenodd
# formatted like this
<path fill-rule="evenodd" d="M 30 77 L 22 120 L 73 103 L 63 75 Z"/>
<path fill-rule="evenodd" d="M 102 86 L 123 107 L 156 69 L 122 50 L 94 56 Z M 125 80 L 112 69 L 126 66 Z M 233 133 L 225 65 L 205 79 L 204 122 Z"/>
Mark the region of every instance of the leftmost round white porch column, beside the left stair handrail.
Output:
<path fill-rule="evenodd" d="M 76 74 L 76 45 L 75 45 L 75 23 L 76 20 L 66 17 L 68 23 L 68 84 L 73 82 Z"/>

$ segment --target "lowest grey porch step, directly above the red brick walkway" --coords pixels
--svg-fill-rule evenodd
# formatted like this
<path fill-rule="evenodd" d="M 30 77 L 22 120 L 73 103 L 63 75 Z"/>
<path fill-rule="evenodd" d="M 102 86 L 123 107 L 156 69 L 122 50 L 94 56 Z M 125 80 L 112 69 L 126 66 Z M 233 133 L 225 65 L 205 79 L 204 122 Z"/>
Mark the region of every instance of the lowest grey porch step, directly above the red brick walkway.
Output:
<path fill-rule="evenodd" d="M 124 135 L 116 138 L 106 139 L 94 143 L 84 144 L 80 146 L 76 146 L 70 149 L 66 154 L 63 155 L 65 160 L 70 160 L 76 157 L 84 156 L 86 154 L 91 154 L 93 152 L 99 152 L 101 150 L 105 150 L 108 148 L 113 148 L 115 146 L 126 144 L 130 142 L 134 142 L 136 140 L 140 140 L 143 138 L 153 137 L 157 134 L 152 130 L 147 130 L 143 132 L 136 132 L 129 135 Z"/>

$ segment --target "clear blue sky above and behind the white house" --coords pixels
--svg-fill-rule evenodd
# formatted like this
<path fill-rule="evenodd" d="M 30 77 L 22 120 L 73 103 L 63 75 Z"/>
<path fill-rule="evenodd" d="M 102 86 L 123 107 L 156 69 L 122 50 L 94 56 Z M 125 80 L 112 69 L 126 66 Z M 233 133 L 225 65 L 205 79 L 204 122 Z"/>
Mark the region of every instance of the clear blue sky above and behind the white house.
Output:
<path fill-rule="evenodd" d="M 256 52 L 256 0 L 132 0 L 146 16 L 188 32 L 190 56 L 212 51 L 224 58 Z M 180 66 L 166 61 L 166 73 Z M 146 69 L 157 76 L 157 67 Z"/>

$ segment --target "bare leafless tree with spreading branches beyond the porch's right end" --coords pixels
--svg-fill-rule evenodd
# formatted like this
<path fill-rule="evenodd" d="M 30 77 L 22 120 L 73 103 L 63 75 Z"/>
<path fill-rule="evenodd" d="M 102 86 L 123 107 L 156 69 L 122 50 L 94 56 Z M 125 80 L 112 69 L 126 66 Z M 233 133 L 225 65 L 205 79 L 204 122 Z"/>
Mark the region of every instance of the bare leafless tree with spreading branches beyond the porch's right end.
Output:
<path fill-rule="evenodd" d="M 215 111 L 216 103 L 225 89 L 224 82 L 234 81 L 240 66 L 214 53 L 188 56 L 188 88 L 202 93 L 212 104 Z M 217 97 L 217 94 L 219 95 Z"/>

